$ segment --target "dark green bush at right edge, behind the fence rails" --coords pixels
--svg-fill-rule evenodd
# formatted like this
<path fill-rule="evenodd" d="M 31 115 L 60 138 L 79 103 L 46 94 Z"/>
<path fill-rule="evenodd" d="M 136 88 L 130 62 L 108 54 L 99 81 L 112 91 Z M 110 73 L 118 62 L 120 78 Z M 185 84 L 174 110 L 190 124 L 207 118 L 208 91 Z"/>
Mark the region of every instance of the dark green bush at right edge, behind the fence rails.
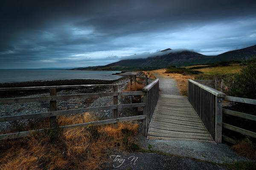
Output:
<path fill-rule="evenodd" d="M 247 62 L 234 76 L 230 96 L 256 99 L 256 62 Z"/>

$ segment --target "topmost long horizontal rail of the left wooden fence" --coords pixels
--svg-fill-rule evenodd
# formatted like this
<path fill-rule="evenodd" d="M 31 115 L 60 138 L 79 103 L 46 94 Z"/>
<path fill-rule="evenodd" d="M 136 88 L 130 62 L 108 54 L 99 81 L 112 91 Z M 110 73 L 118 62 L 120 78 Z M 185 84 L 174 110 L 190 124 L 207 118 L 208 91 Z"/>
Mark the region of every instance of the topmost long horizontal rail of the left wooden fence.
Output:
<path fill-rule="evenodd" d="M 112 86 L 113 84 L 101 84 L 101 85 L 58 85 L 58 86 L 38 86 L 38 87 L 22 87 L 22 88 L 0 88 L 0 91 L 24 91 L 24 90 L 44 90 L 50 88 L 88 88 L 96 86 Z"/>

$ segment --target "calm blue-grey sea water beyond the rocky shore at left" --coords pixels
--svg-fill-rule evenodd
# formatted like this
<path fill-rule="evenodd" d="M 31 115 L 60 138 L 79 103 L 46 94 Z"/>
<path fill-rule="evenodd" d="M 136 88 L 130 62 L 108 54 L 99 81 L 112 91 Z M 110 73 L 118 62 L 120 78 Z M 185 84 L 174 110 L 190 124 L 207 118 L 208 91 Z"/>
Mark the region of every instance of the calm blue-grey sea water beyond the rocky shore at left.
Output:
<path fill-rule="evenodd" d="M 119 71 L 75 71 L 75 70 L 0 70 L 0 83 L 26 82 L 56 79 L 103 79 L 114 80 L 121 76 L 111 75 Z"/>

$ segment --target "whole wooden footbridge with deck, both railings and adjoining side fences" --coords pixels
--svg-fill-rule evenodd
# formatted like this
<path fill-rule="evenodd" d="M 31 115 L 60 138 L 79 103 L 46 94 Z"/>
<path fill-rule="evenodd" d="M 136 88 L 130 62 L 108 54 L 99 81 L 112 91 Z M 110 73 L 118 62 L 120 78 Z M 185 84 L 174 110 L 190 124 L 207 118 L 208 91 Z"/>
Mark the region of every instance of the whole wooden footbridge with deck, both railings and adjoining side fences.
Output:
<path fill-rule="evenodd" d="M 247 136 L 256 138 L 256 133 L 244 130 L 233 125 L 222 122 L 222 114 L 242 117 L 256 121 L 256 116 L 222 109 L 222 101 L 243 102 L 256 105 L 256 100 L 244 99 L 232 96 L 226 96 L 224 93 L 203 85 L 199 82 L 188 80 L 188 97 L 159 94 L 159 79 L 148 79 L 147 76 L 140 77 L 145 79 L 145 87 L 142 91 L 118 91 L 118 85 L 100 85 L 112 86 L 112 92 L 94 93 L 94 94 L 75 94 L 58 95 L 57 89 L 67 88 L 87 88 L 99 85 L 69 85 L 69 86 L 44 86 L 44 87 L 26 87 L 26 88 L 0 88 L 0 91 L 25 91 L 36 89 L 48 89 L 50 96 L 41 97 L 22 97 L 0 99 L 0 104 L 16 104 L 24 102 L 50 102 L 50 108 L 45 113 L 32 113 L 24 115 L 2 116 L 0 122 L 22 121 L 24 119 L 45 119 L 49 118 L 50 127 L 44 129 L 33 129 L 28 131 L 18 131 L 7 134 L 0 134 L 0 140 L 15 139 L 29 136 L 31 133 L 41 133 L 45 129 L 52 128 L 74 128 L 88 125 L 106 125 L 115 124 L 123 121 L 142 120 L 143 135 L 148 139 L 166 139 L 166 140 L 197 140 L 203 142 L 221 143 L 222 139 L 228 142 L 234 142 L 233 139 L 222 135 L 222 128 L 227 128 Z M 132 79 L 132 77 L 131 77 Z M 148 82 L 150 81 L 150 82 Z M 134 76 L 136 83 L 136 76 Z M 119 104 L 118 96 L 140 95 L 143 96 L 141 103 Z M 57 100 L 85 99 L 113 96 L 113 105 L 103 105 L 93 108 L 79 108 L 58 111 Z M 118 117 L 118 112 L 124 108 L 143 107 L 143 115 Z M 99 120 L 94 122 L 84 122 L 80 124 L 58 126 L 57 116 L 70 115 L 76 113 L 112 110 L 113 119 Z"/>

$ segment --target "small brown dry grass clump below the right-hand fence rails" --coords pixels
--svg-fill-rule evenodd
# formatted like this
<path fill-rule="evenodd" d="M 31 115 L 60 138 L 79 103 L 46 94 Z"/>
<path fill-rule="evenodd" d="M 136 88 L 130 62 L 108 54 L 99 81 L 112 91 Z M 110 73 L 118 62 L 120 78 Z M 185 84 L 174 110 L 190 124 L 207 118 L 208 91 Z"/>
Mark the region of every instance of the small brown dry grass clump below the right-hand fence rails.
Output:
<path fill-rule="evenodd" d="M 246 158 L 256 160 L 256 147 L 248 138 L 234 144 L 231 149 Z"/>

